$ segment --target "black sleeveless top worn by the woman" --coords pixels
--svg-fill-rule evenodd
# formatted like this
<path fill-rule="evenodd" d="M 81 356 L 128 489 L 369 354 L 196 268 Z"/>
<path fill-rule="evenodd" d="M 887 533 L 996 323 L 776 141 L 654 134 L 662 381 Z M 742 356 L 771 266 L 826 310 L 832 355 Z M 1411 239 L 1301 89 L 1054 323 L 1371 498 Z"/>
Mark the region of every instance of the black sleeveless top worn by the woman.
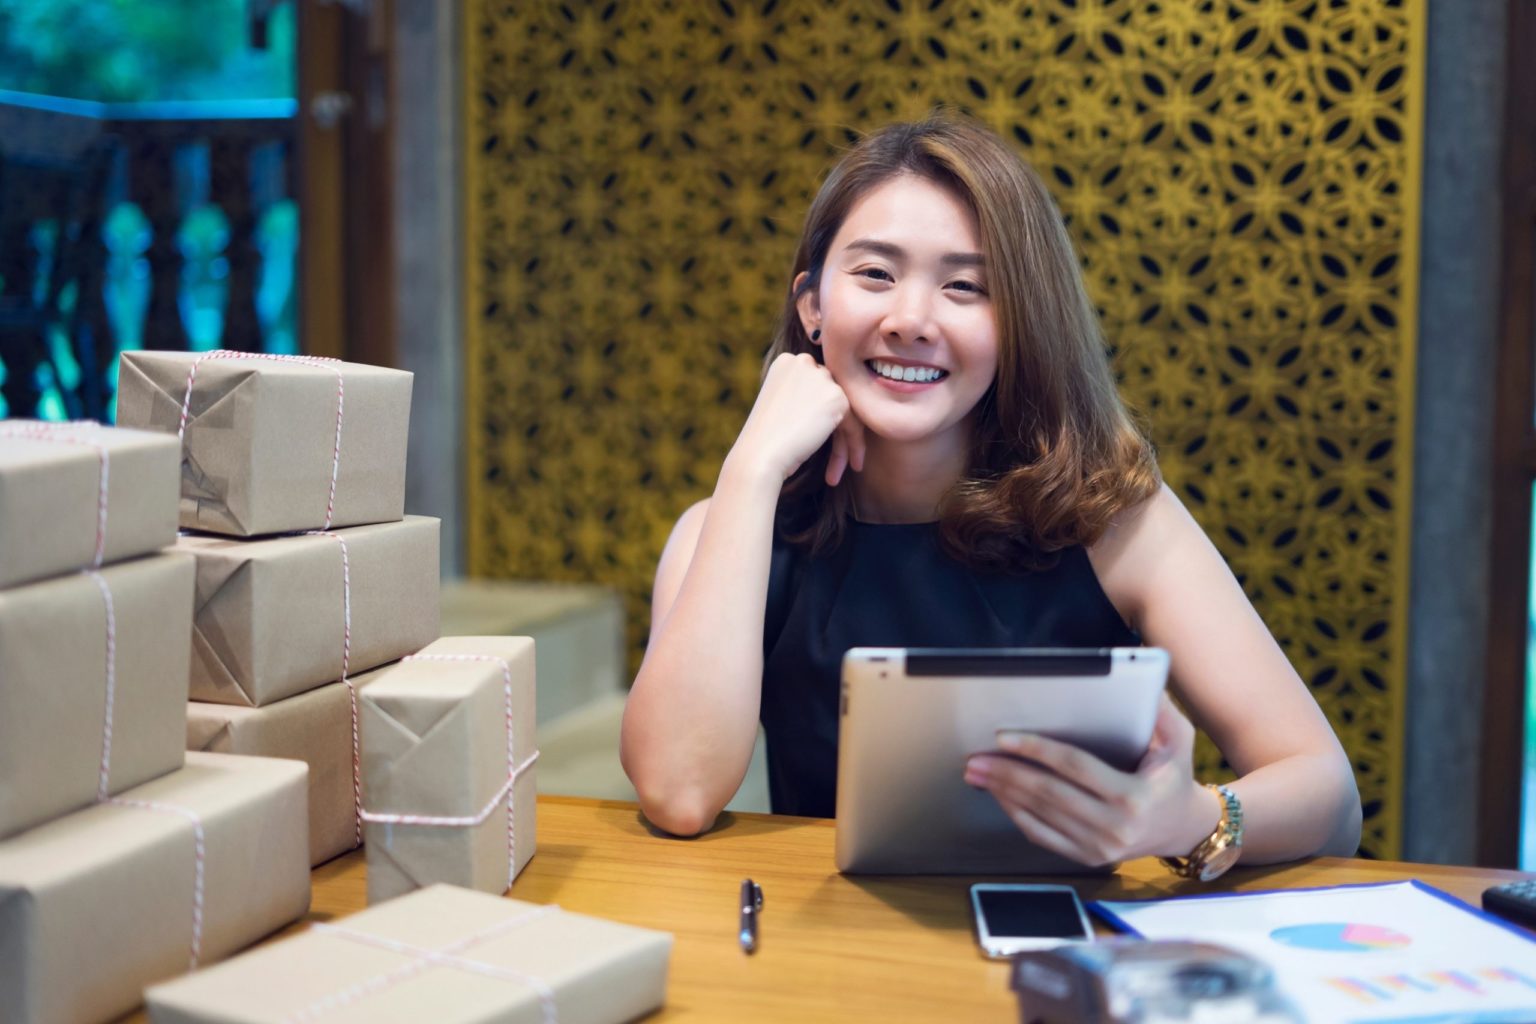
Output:
<path fill-rule="evenodd" d="M 762 723 L 774 814 L 834 817 L 837 697 L 854 646 L 1135 646 L 1083 548 L 1052 568 L 982 573 L 937 524 L 849 520 L 813 559 L 774 537 L 763 623 Z"/>

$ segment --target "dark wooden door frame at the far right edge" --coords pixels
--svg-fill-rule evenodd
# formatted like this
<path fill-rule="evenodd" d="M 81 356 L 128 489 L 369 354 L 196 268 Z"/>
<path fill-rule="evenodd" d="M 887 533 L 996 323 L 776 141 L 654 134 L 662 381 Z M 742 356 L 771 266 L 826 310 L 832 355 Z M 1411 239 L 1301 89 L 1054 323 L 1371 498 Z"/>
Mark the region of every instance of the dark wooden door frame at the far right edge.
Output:
<path fill-rule="evenodd" d="M 1493 568 L 1478 858 L 1484 864 L 1513 867 L 1521 852 L 1531 485 L 1536 482 L 1536 61 L 1530 58 L 1536 49 L 1536 0 L 1511 0 L 1508 25 L 1493 431 Z"/>

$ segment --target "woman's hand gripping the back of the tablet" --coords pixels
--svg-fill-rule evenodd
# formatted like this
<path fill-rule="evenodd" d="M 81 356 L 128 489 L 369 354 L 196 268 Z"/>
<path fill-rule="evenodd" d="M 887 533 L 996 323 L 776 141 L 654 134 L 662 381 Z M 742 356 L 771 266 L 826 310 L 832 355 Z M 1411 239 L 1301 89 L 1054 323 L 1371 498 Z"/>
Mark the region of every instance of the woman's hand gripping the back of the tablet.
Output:
<path fill-rule="evenodd" d="M 1081 864 L 1183 857 L 1221 820 L 1195 781 L 1195 728 L 1166 694 L 1135 772 L 1029 732 L 1000 732 L 998 748 L 1005 755 L 966 761 L 966 783 L 991 792 L 1032 843 Z"/>

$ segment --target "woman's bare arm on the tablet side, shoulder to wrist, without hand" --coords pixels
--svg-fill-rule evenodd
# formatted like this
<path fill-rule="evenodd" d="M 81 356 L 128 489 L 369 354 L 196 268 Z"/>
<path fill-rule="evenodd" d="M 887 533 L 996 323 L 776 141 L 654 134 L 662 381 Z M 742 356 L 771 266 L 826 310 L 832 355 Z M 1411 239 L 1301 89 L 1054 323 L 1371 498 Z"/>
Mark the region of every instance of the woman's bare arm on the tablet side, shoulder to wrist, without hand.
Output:
<path fill-rule="evenodd" d="M 1127 514 L 1089 557 L 1121 616 L 1169 651 L 1175 694 L 1236 771 L 1243 863 L 1352 855 L 1361 808 L 1349 757 L 1174 491 L 1164 487 Z M 1200 823 L 1192 818 L 1189 831 Z"/>

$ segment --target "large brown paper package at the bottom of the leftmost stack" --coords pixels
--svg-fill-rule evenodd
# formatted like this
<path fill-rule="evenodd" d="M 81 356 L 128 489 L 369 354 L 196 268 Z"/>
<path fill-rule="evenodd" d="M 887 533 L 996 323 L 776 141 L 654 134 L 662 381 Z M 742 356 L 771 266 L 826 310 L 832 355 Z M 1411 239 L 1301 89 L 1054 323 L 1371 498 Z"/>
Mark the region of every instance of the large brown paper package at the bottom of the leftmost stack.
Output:
<path fill-rule="evenodd" d="M 200 964 L 304 915 L 309 857 L 298 761 L 190 754 L 123 794 L 203 824 Z M 197 831 L 172 811 L 97 804 L 0 841 L 0 1015 L 106 1021 L 190 967 Z"/>

